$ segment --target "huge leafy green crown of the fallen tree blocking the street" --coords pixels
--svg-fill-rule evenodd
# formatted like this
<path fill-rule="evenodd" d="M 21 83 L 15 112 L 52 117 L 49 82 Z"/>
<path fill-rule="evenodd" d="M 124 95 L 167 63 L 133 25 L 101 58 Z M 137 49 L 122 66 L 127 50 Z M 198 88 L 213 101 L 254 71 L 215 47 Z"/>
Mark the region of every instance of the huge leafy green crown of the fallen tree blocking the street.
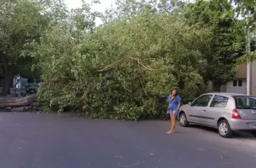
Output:
<path fill-rule="evenodd" d="M 49 108 L 83 110 L 92 118 L 152 118 L 172 87 L 183 101 L 205 87 L 198 49 L 209 39 L 207 28 L 146 7 L 126 19 L 94 29 L 89 21 L 81 28 L 85 22 L 75 13 L 65 25 L 46 30 L 36 45 L 48 82 L 41 101 Z"/>

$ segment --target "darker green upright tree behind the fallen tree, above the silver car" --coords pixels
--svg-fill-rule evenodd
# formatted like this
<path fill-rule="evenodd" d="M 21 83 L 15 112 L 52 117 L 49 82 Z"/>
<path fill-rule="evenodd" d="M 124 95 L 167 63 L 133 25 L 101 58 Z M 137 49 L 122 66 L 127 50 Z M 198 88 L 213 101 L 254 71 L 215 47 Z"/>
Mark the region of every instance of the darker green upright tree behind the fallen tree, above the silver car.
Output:
<path fill-rule="evenodd" d="M 213 1 L 198 0 L 188 4 L 184 11 L 189 25 L 208 27 L 213 32 L 209 43 L 201 48 L 203 57 L 200 67 L 203 79 L 213 82 L 215 91 L 220 91 L 221 85 L 236 78 L 235 60 L 245 51 L 245 36 L 242 35 L 245 33 L 237 26 L 240 21 L 233 15 L 225 15 L 225 11 L 232 8 L 228 1 L 215 6 Z"/>

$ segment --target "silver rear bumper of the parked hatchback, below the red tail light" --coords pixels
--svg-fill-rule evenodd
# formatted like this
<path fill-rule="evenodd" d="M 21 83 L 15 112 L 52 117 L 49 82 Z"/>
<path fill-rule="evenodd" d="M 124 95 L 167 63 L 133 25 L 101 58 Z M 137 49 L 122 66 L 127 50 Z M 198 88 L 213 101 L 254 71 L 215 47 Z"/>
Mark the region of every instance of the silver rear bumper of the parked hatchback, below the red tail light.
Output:
<path fill-rule="evenodd" d="M 231 130 L 256 130 L 252 127 L 252 123 L 256 123 L 256 120 L 242 120 L 242 119 L 229 119 Z"/>

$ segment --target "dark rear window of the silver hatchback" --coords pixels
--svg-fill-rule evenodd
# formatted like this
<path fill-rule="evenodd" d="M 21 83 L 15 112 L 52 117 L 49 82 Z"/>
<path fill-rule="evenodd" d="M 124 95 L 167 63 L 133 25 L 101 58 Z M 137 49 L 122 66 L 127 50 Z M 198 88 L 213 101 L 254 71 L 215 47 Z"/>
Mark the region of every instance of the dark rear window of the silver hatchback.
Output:
<path fill-rule="evenodd" d="M 238 109 L 256 109 L 256 97 L 252 96 L 233 96 L 235 106 Z"/>

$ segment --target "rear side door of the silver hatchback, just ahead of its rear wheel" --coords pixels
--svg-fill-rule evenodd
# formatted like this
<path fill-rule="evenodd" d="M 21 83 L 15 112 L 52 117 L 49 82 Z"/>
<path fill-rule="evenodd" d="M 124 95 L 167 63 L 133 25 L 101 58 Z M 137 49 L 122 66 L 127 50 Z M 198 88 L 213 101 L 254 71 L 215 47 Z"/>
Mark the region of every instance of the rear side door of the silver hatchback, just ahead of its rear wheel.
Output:
<path fill-rule="evenodd" d="M 217 127 L 218 118 L 223 116 L 225 112 L 228 112 L 226 108 L 228 103 L 228 97 L 215 94 L 213 100 L 210 102 L 210 107 L 206 111 L 206 125 Z"/>

